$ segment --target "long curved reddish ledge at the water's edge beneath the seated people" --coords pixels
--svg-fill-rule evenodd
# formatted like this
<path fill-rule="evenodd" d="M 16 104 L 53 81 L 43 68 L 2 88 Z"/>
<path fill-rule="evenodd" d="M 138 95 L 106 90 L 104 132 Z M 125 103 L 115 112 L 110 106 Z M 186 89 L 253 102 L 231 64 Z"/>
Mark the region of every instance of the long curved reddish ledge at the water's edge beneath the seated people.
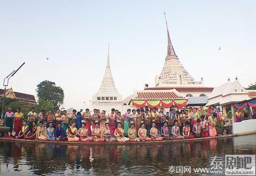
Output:
<path fill-rule="evenodd" d="M 209 139 L 220 139 L 220 138 L 230 138 L 237 137 L 241 135 L 256 134 L 256 131 L 239 133 L 239 134 L 229 134 L 221 135 L 215 137 L 203 137 L 203 138 L 193 138 L 193 139 L 180 139 L 180 140 L 169 140 L 169 141 L 148 141 L 148 142 L 69 142 L 69 141 L 43 141 L 43 140 L 29 140 L 29 139 L 9 139 L 0 137 L 0 141 L 6 142 L 27 142 L 27 143 L 42 143 L 42 144 L 61 144 L 61 145 L 144 145 L 144 144 L 169 144 L 173 142 L 191 142 L 191 141 L 204 141 Z"/>

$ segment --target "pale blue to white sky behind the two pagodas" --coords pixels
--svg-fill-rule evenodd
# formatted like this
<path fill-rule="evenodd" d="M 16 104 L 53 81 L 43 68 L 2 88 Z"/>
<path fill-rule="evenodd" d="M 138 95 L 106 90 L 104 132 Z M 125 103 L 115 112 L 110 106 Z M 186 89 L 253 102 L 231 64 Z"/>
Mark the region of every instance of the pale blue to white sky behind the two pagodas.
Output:
<path fill-rule="evenodd" d="M 98 91 L 108 43 L 123 98 L 146 83 L 154 87 L 166 57 L 164 11 L 174 50 L 195 80 L 203 77 L 206 87 L 236 76 L 244 87 L 256 81 L 253 0 L 0 3 L 0 82 L 26 62 L 9 87 L 36 97 L 41 81 L 54 81 L 64 90 L 65 108 L 83 108 Z"/>

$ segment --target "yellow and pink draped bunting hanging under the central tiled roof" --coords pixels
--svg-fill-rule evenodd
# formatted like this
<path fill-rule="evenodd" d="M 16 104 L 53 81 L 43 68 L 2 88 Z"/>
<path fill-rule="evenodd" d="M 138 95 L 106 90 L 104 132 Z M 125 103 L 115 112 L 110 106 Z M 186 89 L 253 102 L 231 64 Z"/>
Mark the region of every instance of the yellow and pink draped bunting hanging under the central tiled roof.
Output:
<path fill-rule="evenodd" d="M 187 105 L 188 99 L 187 100 L 130 100 L 131 104 L 134 105 L 138 108 L 142 108 L 144 106 L 149 106 L 150 108 L 158 108 L 159 106 L 164 107 L 164 108 L 170 108 L 174 104 L 182 108 Z"/>

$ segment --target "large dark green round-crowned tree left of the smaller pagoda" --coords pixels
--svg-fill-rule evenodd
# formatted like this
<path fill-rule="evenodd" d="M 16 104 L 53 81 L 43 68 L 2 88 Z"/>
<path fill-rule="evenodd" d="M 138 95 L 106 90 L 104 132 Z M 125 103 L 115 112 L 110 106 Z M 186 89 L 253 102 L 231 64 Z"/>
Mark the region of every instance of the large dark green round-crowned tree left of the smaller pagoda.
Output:
<path fill-rule="evenodd" d="M 54 110 L 64 102 L 64 91 L 52 81 L 42 81 L 37 85 L 37 97 L 45 101 L 52 101 Z"/>

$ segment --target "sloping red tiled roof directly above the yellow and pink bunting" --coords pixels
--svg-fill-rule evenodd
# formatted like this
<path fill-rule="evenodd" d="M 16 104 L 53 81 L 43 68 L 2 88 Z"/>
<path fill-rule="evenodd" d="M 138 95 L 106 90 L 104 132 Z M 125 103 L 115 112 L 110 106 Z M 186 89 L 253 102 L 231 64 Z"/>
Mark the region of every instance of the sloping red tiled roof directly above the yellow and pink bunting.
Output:
<path fill-rule="evenodd" d="M 137 92 L 138 96 L 133 99 L 141 100 L 172 100 L 185 99 L 183 96 L 178 96 L 172 91 L 156 91 L 156 92 Z"/>

